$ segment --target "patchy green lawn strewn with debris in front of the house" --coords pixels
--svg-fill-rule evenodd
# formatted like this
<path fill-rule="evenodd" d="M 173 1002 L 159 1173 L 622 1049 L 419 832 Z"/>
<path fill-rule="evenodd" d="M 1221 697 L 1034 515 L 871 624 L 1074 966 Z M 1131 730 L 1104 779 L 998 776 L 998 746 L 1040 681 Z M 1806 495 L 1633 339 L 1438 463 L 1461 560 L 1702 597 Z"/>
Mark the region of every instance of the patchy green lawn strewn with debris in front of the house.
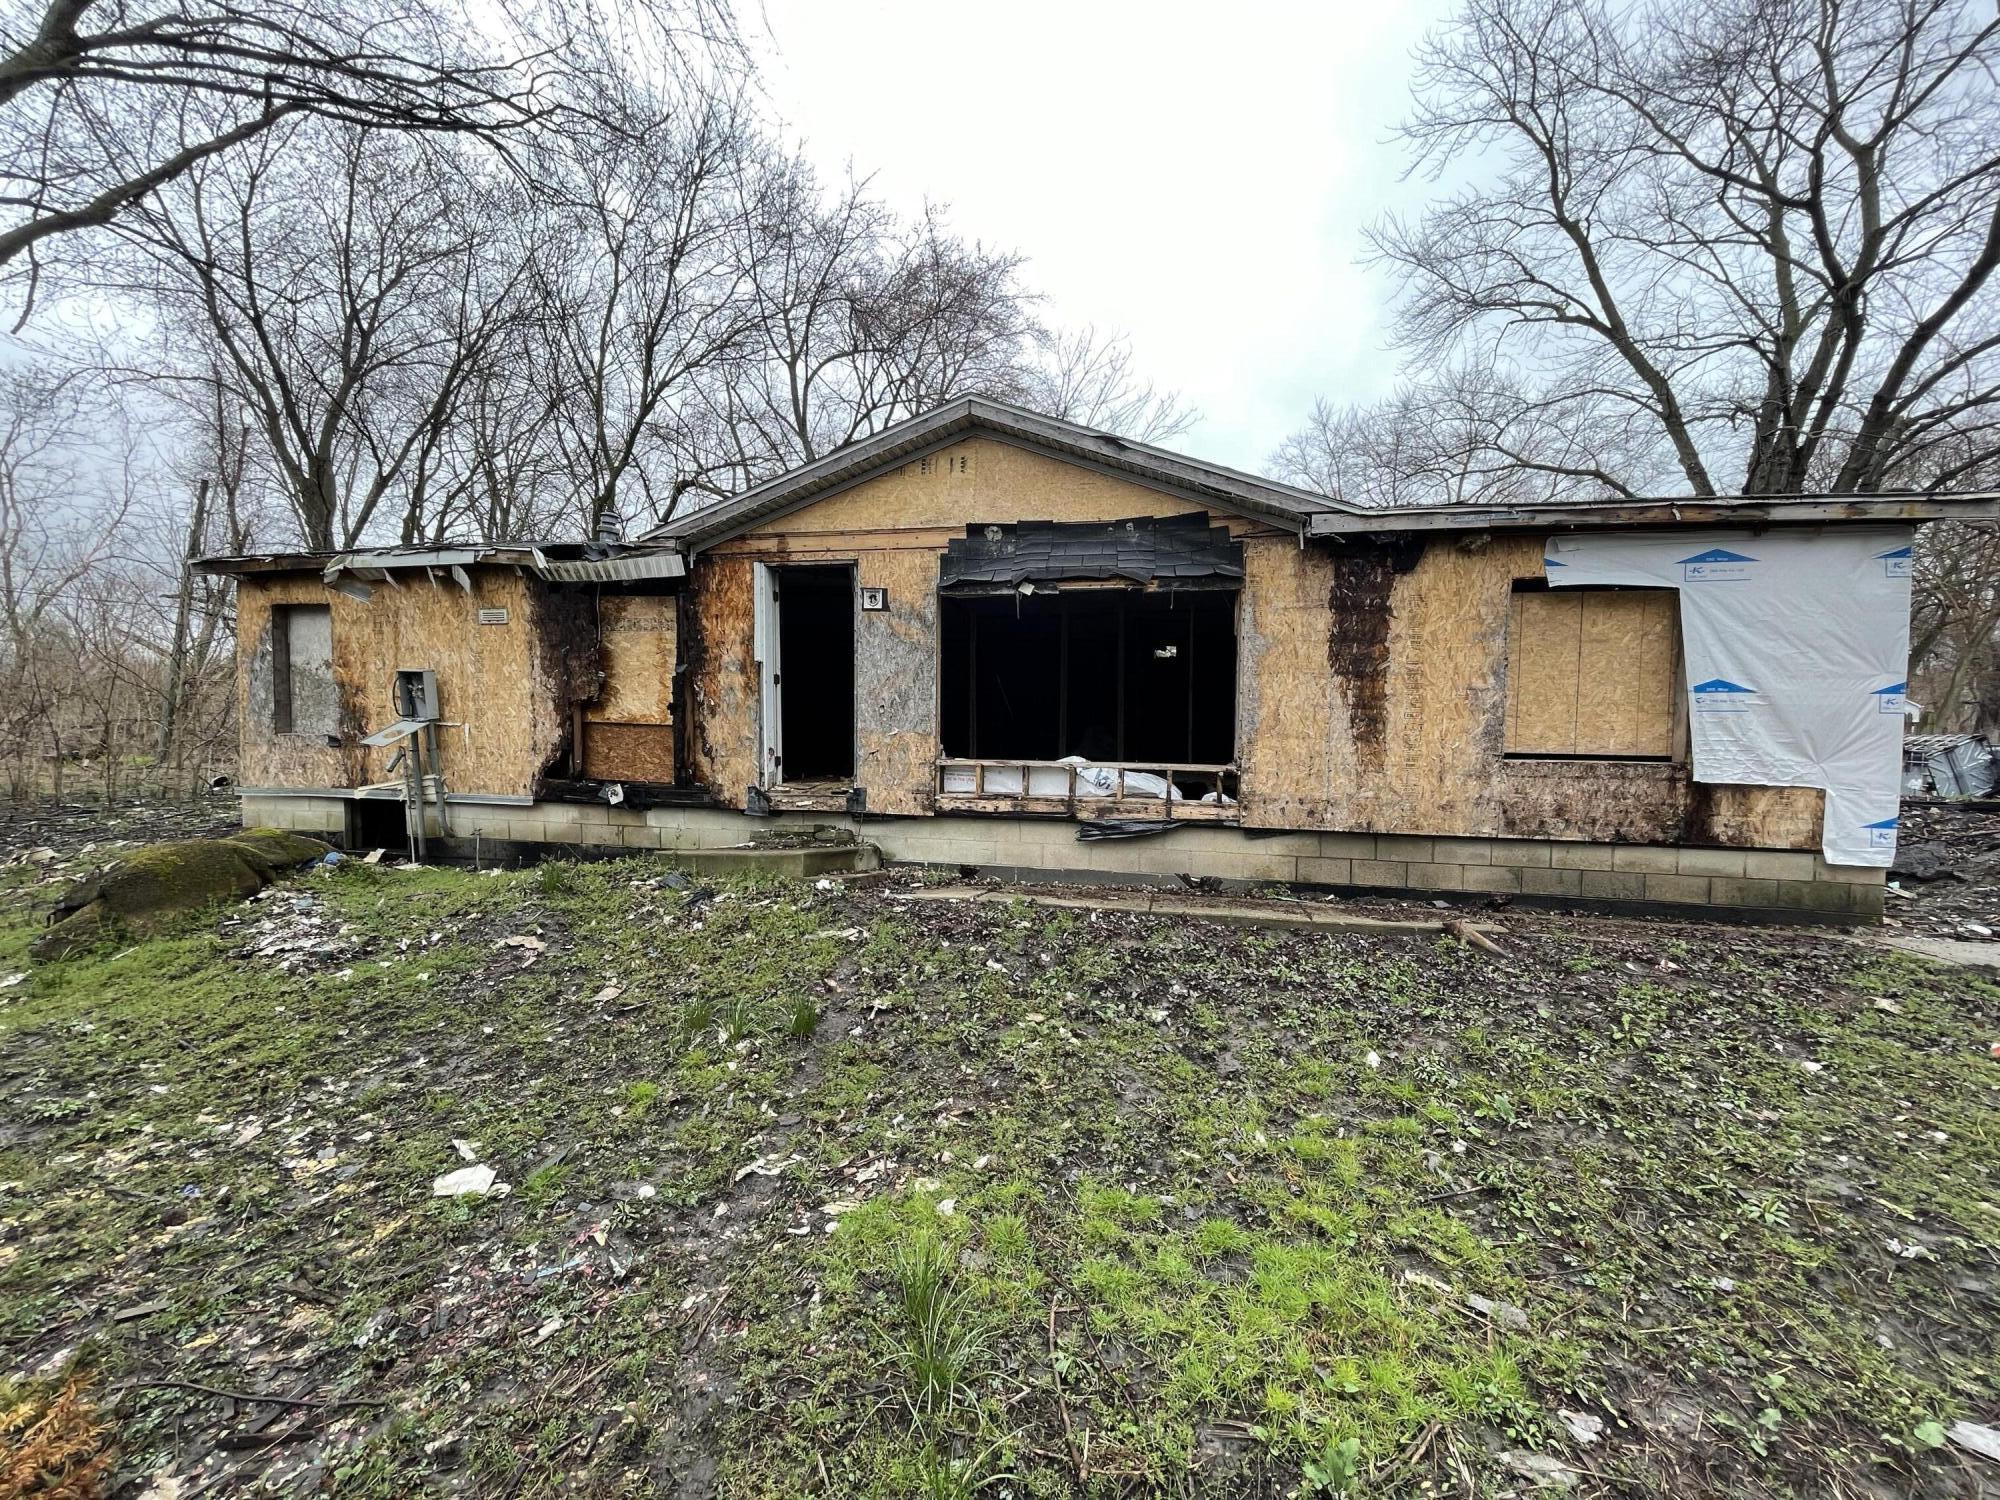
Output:
<path fill-rule="evenodd" d="M 0 874 L 0 1414 L 82 1368 L 124 1494 L 2000 1484 L 1966 970 L 646 862 L 30 966 Z M 508 1192 L 432 1196 L 468 1158 Z"/>

